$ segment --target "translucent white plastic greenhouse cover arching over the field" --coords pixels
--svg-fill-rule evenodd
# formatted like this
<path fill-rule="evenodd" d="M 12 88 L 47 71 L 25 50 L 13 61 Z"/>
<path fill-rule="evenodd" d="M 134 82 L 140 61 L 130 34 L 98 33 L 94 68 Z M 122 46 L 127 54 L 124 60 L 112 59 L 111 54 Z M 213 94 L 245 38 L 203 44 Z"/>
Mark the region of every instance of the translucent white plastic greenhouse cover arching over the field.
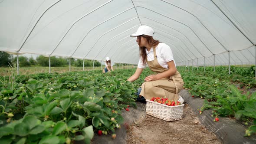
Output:
<path fill-rule="evenodd" d="M 0 51 L 138 64 L 130 35 L 148 25 L 178 65 L 254 64 L 255 7 L 256 0 L 0 0 Z"/>

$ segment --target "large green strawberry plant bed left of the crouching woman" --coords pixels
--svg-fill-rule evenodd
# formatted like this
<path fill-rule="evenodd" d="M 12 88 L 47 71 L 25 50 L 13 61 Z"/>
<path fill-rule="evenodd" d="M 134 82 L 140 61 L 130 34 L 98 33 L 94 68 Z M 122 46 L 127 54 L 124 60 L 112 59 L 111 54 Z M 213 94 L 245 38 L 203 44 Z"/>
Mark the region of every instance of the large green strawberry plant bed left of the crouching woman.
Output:
<path fill-rule="evenodd" d="M 121 110 L 135 106 L 139 84 L 125 81 L 133 72 L 1 77 L 0 143 L 90 143 L 99 130 L 114 134 Z"/>

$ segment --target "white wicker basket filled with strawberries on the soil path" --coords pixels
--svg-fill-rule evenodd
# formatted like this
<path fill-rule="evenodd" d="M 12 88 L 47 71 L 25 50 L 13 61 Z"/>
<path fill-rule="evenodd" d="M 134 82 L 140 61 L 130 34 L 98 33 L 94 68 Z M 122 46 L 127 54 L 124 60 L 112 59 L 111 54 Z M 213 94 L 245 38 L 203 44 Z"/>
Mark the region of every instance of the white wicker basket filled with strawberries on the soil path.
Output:
<path fill-rule="evenodd" d="M 146 100 L 146 114 L 164 121 L 177 121 L 182 119 L 184 104 L 168 106 L 158 102 Z"/>

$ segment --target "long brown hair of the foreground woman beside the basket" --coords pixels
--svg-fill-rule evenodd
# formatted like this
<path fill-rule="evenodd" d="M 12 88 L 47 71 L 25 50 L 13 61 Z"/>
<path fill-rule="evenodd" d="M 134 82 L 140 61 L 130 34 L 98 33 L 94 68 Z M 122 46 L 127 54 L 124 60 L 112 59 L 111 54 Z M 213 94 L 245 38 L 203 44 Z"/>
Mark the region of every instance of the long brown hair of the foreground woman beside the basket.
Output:
<path fill-rule="evenodd" d="M 146 52 L 146 48 L 144 46 L 142 46 L 142 47 L 140 46 L 141 37 L 144 37 L 150 46 L 157 46 L 158 43 L 160 43 L 160 42 L 158 40 L 153 39 L 152 36 L 148 36 L 148 35 L 141 35 L 138 37 L 139 37 L 138 43 L 139 43 L 139 47 L 140 47 L 140 56 L 142 58 L 143 64 L 145 64 L 147 62 L 147 52 Z"/>

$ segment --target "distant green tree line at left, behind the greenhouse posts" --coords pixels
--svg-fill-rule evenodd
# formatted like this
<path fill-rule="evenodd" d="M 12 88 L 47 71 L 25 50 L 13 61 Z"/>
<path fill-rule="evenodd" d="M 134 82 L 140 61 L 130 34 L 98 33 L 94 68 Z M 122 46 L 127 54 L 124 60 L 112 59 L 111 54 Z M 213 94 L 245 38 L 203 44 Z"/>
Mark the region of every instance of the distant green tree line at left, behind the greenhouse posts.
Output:
<path fill-rule="evenodd" d="M 53 67 L 62 67 L 69 65 L 69 58 L 62 58 L 62 57 L 51 57 L 51 66 Z M 0 52 L 0 67 L 7 67 L 10 65 L 11 62 L 17 62 L 17 57 L 10 55 L 7 52 Z M 83 60 L 82 59 L 70 59 L 72 66 L 82 67 L 83 66 Z M 42 55 L 36 57 L 34 59 L 32 56 L 30 58 L 26 56 L 19 56 L 19 64 L 20 67 L 26 67 L 26 66 L 49 66 L 49 57 L 44 57 Z M 93 66 L 93 61 L 89 59 L 84 60 L 85 66 Z M 101 66 L 101 63 L 98 61 L 94 61 L 94 66 Z"/>

